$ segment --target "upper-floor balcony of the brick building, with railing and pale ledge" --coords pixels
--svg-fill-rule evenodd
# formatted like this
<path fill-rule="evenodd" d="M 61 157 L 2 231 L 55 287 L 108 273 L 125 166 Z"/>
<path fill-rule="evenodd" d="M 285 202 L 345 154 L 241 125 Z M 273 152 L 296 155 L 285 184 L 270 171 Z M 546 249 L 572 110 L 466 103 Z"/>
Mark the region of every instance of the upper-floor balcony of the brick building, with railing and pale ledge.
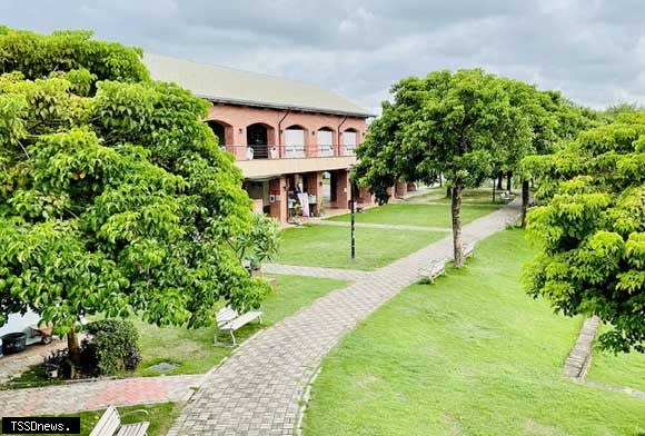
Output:
<path fill-rule="evenodd" d="M 285 174 L 330 171 L 349 168 L 356 162 L 354 148 L 338 153 L 337 146 L 320 145 L 237 145 L 226 146 L 236 156 L 236 164 L 247 178 L 262 178 Z M 346 151 L 349 151 L 346 152 Z"/>

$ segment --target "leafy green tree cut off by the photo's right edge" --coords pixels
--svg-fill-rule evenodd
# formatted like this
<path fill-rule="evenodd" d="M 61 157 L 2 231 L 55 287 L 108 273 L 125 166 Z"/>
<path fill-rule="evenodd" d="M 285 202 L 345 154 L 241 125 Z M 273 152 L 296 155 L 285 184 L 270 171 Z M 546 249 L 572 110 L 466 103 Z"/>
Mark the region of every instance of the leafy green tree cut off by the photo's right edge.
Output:
<path fill-rule="evenodd" d="M 525 167 L 543 204 L 528 215 L 540 247 L 528 291 L 612 324 L 603 347 L 645 351 L 645 115 L 617 115 Z"/>

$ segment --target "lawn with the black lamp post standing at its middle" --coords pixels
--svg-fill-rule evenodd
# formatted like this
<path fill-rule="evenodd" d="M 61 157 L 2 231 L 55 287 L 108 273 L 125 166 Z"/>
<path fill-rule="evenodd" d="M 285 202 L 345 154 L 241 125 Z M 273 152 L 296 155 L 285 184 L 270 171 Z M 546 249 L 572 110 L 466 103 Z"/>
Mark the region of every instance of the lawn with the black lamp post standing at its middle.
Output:
<path fill-rule="evenodd" d="M 280 232 L 276 262 L 373 270 L 435 242 L 447 232 L 357 228 L 356 260 L 350 258 L 349 227 L 310 225 Z"/>

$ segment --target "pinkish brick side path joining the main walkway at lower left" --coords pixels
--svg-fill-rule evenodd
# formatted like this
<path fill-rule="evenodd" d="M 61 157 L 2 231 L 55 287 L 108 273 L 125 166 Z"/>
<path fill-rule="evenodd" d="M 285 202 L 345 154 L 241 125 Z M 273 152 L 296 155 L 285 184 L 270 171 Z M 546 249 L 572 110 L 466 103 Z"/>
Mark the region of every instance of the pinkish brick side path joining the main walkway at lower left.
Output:
<path fill-rule="evenodd" d="M 108 406 L 186 402 L 204 375 L 79 382 L 60 386 L 0 390 L 0 416 L 69 414 Z"/>

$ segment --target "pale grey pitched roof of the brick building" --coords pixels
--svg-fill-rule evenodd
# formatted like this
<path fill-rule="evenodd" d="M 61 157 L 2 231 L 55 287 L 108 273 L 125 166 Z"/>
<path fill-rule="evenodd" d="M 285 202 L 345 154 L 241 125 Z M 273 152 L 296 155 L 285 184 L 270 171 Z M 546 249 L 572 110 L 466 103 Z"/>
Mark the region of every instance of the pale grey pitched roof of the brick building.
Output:
<path fill-rule="evenodd" d="M 145 53 L 156 80 L 175 82 L 198 97 L 217 102 L 371 117 L 335 92 L 279 77 Z"/>

